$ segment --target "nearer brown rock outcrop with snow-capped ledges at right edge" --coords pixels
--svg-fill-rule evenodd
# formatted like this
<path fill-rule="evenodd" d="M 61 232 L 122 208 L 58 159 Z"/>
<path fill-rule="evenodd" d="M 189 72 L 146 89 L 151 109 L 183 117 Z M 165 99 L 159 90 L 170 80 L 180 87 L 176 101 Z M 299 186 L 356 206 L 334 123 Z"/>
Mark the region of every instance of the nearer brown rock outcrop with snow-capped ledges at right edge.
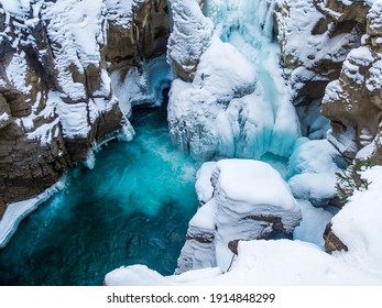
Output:
<path fill-rule="evenodd" d="M 382 2 L 375 1 L 367 15 L 362 46 L 349 53 L 339 79 L 329 84 L 323 114 L 330 119 L 328 139 L 349 160 L 371 157 L 382 163 Z"/>

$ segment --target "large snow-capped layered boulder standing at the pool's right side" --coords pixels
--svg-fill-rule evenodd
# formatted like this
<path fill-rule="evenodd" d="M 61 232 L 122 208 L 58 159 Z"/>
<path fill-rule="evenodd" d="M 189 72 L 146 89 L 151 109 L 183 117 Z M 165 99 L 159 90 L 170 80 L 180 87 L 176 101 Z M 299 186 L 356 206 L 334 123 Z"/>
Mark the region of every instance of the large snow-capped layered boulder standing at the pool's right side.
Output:
<path fill-rule="evenodd" d="M 196 187 L 200 202 L 208 201 L 189 222 L 177 274 L 214 266 L 227 271 L 237 240 L 266 239 L 275 231 L 291 233 L 301 220 L 287 185 L 266 163 L 207 163 Z"/>

